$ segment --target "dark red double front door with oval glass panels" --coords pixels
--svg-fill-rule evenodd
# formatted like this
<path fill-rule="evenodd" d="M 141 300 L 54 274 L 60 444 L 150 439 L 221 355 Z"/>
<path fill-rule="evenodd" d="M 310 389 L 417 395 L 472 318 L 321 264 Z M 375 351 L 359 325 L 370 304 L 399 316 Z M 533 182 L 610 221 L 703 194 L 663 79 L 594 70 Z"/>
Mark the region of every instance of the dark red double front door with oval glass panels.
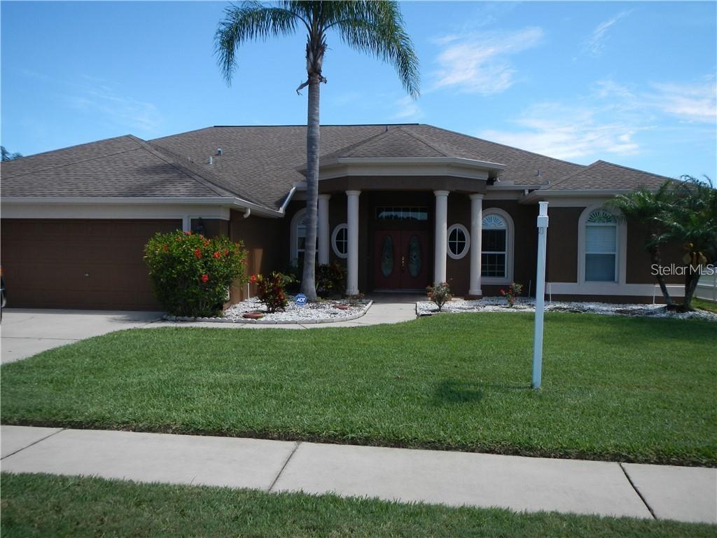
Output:
<path fill-rule="evenodd" d="M 423 290 L 428 284 L 427 241 L 424 230 L 377 230 L 374 288 Z"/>

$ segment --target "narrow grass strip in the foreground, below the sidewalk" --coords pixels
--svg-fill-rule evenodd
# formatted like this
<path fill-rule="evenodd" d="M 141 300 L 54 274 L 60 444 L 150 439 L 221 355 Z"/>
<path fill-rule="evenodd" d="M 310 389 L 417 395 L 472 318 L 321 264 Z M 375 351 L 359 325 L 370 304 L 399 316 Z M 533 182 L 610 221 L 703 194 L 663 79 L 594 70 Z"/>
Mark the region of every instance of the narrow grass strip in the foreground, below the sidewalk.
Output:
<path fill-rule="evenodd" d="M 336 496 L 2 475 L 4 537 L 713 537 L 714 527 L 629 518 L 396 504 Z"/>

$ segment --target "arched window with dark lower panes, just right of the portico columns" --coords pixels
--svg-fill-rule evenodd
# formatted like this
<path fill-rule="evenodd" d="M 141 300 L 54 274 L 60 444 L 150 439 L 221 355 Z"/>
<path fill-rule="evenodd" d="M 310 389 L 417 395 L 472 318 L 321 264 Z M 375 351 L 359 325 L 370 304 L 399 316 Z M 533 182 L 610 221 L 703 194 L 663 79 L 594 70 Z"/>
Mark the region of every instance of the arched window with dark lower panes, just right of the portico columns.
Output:
<path fill-rule="evenodd" d="M 510 283 L 513 278 L 513 221 L 502 209 L 483 212 L 480 275 L 485 283 Z"/>

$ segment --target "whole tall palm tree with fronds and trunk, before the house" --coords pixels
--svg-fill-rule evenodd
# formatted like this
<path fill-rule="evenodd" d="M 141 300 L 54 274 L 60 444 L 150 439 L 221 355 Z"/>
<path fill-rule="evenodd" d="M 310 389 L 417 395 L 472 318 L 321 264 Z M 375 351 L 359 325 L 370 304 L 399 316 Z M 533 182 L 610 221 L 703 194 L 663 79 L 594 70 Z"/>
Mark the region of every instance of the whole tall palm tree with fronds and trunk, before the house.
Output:
<path fill-rule="evenodd" d="M 406 91 L 419 95 L 418 58 L 404 29 L 403 17 L 395 1 L 280 1 L 264 5 L 245 1 L 229 6 L 219 22 L 214 42 L 219 67 L 227 84 L 236 67 L 235 52 L 244 42 L 293 34 L 306 29 L 308 122 L 306 129 L 306 246 L 301 292 L 316 300 L 315 256 L 316 213 L 318 204 L 319 85 L 322 75 L 326 35 L 330 30 L 349 47 L 388 62 L 397 70 Z"/>

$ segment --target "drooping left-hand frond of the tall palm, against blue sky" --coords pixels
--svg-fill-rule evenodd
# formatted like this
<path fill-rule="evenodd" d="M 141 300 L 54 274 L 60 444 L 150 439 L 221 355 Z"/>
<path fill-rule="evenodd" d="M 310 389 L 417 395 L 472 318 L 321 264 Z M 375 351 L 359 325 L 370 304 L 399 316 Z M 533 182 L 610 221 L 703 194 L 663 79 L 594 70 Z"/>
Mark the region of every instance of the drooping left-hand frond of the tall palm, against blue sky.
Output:
<path fill-rule="evenodd" d="M 287 3 L 288 4 L 288 3 Z M 293 34 L 300 14 L 283 7 L 272 7 L 257 1 L 246 1 L 224 10 L 214 34 L 214 54 L 224 80 L 231 85 L 236 68 L 237 48 L 247 41 Z M 305 21 L 304 21 L 305 22 Z"/>

